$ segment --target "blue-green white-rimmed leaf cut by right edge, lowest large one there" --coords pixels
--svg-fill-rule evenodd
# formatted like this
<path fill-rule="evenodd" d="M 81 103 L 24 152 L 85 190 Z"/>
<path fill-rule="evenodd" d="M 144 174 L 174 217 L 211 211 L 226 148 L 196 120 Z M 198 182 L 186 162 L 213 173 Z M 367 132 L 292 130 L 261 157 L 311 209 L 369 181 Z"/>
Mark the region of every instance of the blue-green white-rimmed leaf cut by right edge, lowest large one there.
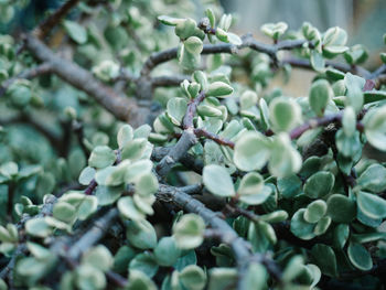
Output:
<path fill-rule="evenodd" d="M 371 218 L 386 217 L 386 201 L 378 195 L 360 191 L 356 194 L 358 208 Z"/>

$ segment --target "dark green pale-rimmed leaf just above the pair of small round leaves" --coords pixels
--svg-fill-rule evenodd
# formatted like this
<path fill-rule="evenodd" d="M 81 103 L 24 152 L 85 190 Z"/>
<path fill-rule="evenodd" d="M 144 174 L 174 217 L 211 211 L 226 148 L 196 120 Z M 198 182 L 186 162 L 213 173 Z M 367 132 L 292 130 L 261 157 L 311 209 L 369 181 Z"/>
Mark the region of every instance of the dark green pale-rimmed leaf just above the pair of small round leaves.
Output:
<path fill-rule="evenodd" d="M 312 174 L 305 182 L 304 194 L 311 198 L 322 197 L 331 192 L 334 186 L 335 176 L 328 171 Z"/>

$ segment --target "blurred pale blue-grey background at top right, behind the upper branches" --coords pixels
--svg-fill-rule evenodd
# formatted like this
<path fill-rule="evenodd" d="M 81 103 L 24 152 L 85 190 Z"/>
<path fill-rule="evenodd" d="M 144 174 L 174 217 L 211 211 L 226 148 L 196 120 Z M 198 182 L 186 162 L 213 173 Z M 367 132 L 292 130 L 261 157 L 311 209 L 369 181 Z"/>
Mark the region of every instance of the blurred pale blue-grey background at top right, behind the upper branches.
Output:
<path fill-rule="evenodd" d="M 222 0 L 227 13 L 237 15 L 237 32 L 253 32 L 254 36 L 270 42 L 262 35 L 260 26 L 268 22 L 285 21 L 289 29 L 298 30 L 308 21 L 321 32 L 331 26 L 347 31 L 349 45 L 364 44 L 369 58 L 364 66 L 374 71 L 382 63 L 379 52 L 385 50 L 383 34 L 386 33 L 386 0 Z M 337 61 L 343 61 L 339 60 Z M 305 95 L 314 74 L 293 71 L 291 82 L 276 79 L 270 86 L 281 86 L 287 94 Z"/>

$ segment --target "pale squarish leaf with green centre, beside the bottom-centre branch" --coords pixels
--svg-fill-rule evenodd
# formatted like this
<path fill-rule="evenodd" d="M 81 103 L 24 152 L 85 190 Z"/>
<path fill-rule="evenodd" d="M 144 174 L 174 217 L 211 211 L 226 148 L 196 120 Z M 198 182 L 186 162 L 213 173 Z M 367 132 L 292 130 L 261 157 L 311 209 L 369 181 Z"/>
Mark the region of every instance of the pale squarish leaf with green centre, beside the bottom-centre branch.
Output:
<path fill-rule="evenodd" d="M 205 223 L 196 214 L 185 214 L 173 226 L 173 236 L 178 247 L 192 249 L 199 247 L 204 239 Z"/>

